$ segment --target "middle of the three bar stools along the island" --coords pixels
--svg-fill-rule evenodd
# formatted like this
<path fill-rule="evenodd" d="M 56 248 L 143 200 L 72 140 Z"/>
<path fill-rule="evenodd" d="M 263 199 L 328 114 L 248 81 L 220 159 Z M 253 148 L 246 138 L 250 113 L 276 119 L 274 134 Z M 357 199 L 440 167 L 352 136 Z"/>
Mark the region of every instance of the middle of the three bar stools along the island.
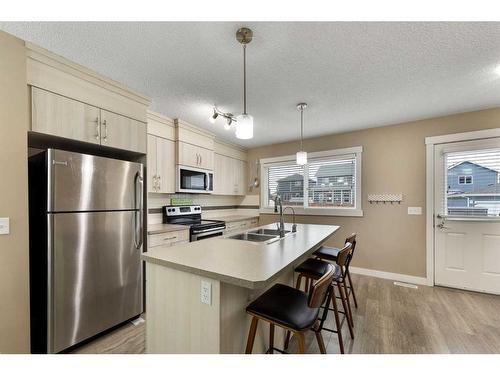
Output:
<path fill-rule="evenodd" d="M 337 253 L 336 264 L 333 264 L 333 266 L 335 267 L 334 277 L 332 279 L 332 284 L 328 290 L 326 303 L 323 307 L 323 314 L 320 318 L 320 324 L 318 327 L 319 330 L 324 329 L 325 331 L 334 332 L 337 334 L 339 340 L 340 352 L 342 354 L 344 353 L 342 326 L 346 320 L 347 320 L 347 325 L 349 327 L 349 333 L 351 335 L 351 338 L 354 339 L 354 331 L 353 331 L 354 324 L 352 322 L 352 314 L 349 309 L 349 301 L 345 287 L 345 276 L 346 276 L 345 264 L 347 262 L 347 259 L 349 258 L 349 254 L 351 253 L 351 251 L 352 251 L 352 244 L 350 242 L 347 242 L 345 246 L 342 249 L 340 249 L 339 252 Z M 300 289 L 302 279 L 304 278 L 306 280 L 305 288 L 307 290 L 310 284 L 314 282 L 314 280 L 320 279 L 324 275 L 325 270 L 330 265 L 332 264 L 316 258 L 309 258 L 303 263 L 301 263 L 297 268 L 295 268 L 295 272 L 299 273 L 297 278 L 296 288 Z M 344 309 L 343 311 L 340 311 L 337 307 L 337 296 L 335 294 L 335 287 L 337 287 L 339 291 L 340 300 L 342 302 L 342 307 Z M 333 305 L 333 309 L 330 308 L 330 302 Z M 333 311 L 334 313 L 336 329 L 330 329 L 324 327 L 324 323 L 328 316 L 328 311 Z M 344 315 L 344 318 L 342 320 L 340 319 L 339 314 Z M 290 340 L 290 335 L 287 333 L 287 337 L 285 339 L 285 350 L 288 347 L 289 340 Z"/>

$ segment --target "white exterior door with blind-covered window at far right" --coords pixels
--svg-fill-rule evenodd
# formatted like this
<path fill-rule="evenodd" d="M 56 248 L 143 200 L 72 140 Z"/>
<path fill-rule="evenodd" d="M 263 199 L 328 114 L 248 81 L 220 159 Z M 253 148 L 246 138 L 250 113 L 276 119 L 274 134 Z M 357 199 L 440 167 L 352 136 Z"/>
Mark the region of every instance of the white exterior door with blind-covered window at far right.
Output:
<path fill-rule="evenodd" d="M 500 294 L 500 139 L 435 147 L 435 284 Z"/>

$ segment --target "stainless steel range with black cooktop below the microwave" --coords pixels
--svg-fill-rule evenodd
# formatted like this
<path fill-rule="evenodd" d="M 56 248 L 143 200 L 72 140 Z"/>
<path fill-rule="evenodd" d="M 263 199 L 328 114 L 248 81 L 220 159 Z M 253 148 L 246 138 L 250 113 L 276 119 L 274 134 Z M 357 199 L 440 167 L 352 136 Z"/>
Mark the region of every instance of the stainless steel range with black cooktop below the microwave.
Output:
<path fill-rule="evenodd" d="M 163 206 L 163 222 L 189 225 L 191 242 L 222 236 L 226 229 L 222 220 L 203 220 L 201 206 Z"/>

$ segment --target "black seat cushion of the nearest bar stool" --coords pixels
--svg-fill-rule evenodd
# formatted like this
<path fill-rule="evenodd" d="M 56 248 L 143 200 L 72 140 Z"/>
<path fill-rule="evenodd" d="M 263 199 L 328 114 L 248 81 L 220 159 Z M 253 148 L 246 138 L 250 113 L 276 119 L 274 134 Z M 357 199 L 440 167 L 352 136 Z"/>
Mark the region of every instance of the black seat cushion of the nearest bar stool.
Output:
<path fill-rule="evenodd" d="M 319 309 L 307 304 L 308 295 L 288 285 L 276 284 L 247 306 L 247 312 L 301 331 L 311 327 Z"/>

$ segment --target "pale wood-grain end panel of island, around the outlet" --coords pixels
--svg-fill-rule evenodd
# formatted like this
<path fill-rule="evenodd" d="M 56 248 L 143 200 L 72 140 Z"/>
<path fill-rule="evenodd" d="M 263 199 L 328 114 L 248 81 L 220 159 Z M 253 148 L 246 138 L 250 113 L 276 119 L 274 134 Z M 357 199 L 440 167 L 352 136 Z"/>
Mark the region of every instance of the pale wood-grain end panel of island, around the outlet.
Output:
<path fill-rule="evenodd" d="M 201 302 L 201 282 L 211 284 L 211 304 Z M 220 352 L 220 282 L 146 263 L 146 352 Z"/>

